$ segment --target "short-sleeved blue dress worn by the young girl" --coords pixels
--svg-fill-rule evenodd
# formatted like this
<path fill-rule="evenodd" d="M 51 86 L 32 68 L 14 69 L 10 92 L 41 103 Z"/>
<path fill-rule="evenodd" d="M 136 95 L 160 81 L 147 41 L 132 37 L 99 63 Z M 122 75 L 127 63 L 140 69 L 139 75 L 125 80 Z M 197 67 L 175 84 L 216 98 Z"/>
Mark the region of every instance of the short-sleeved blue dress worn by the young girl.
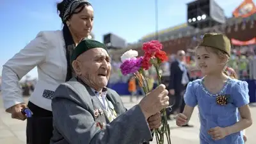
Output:
<path fill-rule="evenodd" d="M 200 118 L 200 144 L 244 144 L 243 131 L 226 136 L 221 140 L 212 140 L 207 133 L 213 127 L 228 127 L 239 120 L 238 109 L 249 103 L 248 83 L 228 78 L 223 89 L 211 94 L 205 89 L 202 79 L 188 83 L 184 101 L 188 106 L 198 105 Z M 216 97 L 227 96 L 227 104 L 217 104 Z"/>

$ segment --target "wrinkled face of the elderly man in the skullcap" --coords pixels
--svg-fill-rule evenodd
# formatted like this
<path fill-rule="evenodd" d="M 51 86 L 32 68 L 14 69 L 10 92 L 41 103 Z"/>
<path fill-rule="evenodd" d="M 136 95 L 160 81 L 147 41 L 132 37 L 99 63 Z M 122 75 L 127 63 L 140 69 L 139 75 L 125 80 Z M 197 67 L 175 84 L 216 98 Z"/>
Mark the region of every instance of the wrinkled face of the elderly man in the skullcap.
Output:
<path fill-rule="evenodd" d="M 77 57 L 81 63 L 81 72 L 77 73 L 89 82 L 93 88 L 106 87 L 111 71 L 110 57 L 103 48 L 92 48 Z"/>

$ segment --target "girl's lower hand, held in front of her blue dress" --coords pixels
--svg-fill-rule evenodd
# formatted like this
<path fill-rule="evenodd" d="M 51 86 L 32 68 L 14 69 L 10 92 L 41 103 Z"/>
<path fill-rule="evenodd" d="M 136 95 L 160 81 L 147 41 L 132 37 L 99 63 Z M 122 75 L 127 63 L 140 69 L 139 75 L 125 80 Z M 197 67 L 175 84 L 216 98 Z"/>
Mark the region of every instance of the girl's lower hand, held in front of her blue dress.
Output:
<path fill-rule="evenodd" d="M 223 127 L 214 127 L 209 129 L 208 134 L 211 135 L 212 140 L 220 140 L 222 138 L 225 138 L 227 136 L 227 129 Z"/>

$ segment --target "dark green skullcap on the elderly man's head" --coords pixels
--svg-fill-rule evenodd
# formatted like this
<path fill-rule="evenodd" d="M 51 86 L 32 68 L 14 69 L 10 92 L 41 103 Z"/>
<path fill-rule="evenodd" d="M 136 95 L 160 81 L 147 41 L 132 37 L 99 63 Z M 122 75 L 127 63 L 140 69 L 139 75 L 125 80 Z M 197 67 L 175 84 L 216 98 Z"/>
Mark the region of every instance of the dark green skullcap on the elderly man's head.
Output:
<path fill-rule="evenodd" d="M 71 55 L 71 61 L 75 61 L 79 55 L 83 54 L 87 50 L 90 50 L 92 48 L 103 48 L 108 52 L 108 48 L 103 43 L 100 43 L 99 41 L 95 40 L 83 40 L 81 41 L 77 47 L 74 49 L 72 55 Z"/>

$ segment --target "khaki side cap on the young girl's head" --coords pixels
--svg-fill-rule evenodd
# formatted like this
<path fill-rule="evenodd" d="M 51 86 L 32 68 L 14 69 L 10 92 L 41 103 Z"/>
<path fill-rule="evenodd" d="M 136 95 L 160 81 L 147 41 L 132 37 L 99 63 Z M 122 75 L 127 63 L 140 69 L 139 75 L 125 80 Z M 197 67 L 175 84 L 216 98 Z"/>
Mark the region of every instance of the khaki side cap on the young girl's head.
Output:
<path fill-rule="evenodd" d="M 206 33 L 199 46 L 218 48 L 230 56 L 230 40 L 223 34 Z"/>

